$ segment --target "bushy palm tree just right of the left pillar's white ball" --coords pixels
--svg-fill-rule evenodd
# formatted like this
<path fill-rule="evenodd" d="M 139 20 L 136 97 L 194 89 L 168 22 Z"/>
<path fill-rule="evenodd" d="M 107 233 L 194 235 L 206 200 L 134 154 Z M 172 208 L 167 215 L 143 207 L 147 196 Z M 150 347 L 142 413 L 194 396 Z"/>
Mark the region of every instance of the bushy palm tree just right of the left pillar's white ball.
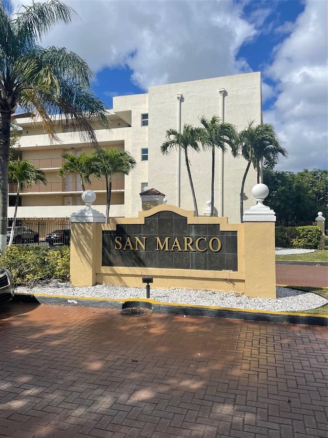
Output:
<path fill-rule="evenodd" d="M 128 151 L 118 147 L 93 150 L 90 174 L 93 173 L 98 179 L 103 176 L 106 181 L 106 223 L 108 223 L 109 207 L 111 205 L 113 175 L 129 175 L 136 164 L 136 160 Z"/>

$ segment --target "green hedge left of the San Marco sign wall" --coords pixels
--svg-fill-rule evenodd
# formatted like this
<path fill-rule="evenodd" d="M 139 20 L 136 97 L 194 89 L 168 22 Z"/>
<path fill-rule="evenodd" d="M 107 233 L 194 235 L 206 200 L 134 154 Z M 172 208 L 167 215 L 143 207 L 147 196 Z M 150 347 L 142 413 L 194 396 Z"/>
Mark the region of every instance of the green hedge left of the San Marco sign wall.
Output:
<path fill-rule="evenodd" d="M 70 248 L 50 250 L 46 246 L 8 246 L 0 253 L 0 265 L 9 269 L 15 285 L 33 286 L 38 281 L 70 278 Z"/>

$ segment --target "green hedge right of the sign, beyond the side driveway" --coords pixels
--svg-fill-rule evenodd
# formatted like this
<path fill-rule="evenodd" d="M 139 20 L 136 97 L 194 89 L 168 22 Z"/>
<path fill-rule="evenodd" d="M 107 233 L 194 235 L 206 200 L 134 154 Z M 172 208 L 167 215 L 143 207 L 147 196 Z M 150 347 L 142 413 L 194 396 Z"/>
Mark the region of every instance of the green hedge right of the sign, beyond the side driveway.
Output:
<path fill-rule="evenodd" d="M 276 246 L 318 249 L 322 231 L 319 226 L 276 226 Z"/>

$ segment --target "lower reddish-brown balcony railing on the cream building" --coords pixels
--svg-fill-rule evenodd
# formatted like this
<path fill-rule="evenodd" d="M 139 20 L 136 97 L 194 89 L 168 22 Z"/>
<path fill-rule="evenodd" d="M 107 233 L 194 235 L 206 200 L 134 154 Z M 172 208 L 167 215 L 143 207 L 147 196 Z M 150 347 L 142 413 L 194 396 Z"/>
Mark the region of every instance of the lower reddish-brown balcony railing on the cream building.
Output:
<path fill-rule="evenodd" d="M 91 184 L 85 184 L 86 190 L 94 192 L 106 190 L 105 181 L 91 181 Z M 112 180 L 112 191 L 124 190 L 124 180 Z M 52 193 L 52 192 L 83 192 L 82 184 L 79 181 L 59 181 L 48 182 L 45 184 L 33 184 L 31 187 L 25 187 L 20 193 Z M 17 184 L 8 184 L 8 194 L 15 195 L 17 193 Z"/>

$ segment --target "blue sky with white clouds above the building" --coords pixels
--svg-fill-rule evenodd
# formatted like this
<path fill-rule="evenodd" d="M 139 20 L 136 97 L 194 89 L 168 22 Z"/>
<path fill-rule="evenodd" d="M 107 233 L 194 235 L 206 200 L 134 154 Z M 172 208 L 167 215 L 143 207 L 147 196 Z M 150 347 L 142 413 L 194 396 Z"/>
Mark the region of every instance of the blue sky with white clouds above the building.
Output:
<path fill-rule="evenodd" d="M 30 0 L 11 0 L 12 11 Z M 44 46 L 66 47 L 112 97 L 151 85 L 262 72 L 263 120 L 289 151 L 276 170 L 327 168 L 326 0 L 67 0 L 80 16 Z M 168 127 L 169 128 L 169 127 Z"/>

